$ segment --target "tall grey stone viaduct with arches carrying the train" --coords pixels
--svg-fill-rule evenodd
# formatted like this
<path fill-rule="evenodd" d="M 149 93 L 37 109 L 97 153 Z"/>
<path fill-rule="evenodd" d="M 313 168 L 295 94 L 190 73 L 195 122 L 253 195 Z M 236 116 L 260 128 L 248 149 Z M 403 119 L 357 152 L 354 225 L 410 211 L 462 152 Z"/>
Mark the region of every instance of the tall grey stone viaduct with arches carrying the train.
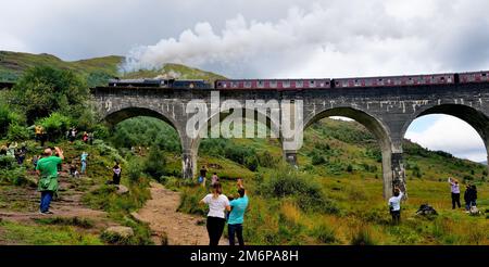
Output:
<path fill-rule="evenodd" d="M 180 137 L 185 178 L 197 173 L 200 138 L 186 135 L 187 103 L 200 99 L 210 105 L 213 89 L 168 89 L 97 87 L 91 92 L 103 119 L 115 125 L 134 116 L 161 118 Z M 410 124 L 428 114 L 447 114 L 468 123 L 489 142 L 489 84 L 411 86 L 389 88 L 309 89 L 276 91 L 263 89 L 221 90 L 221 102 L 247 100 L 302 100 L 304 129 L 329 116 L 344 116 L 364 125 L 377 138 L 383 155 L 384 196 L 392 195 L 394 186 L 405 191 L 402 139 Z M 217 112 L 220 113 L 220 112 Z M 223 114 L 210 114 L 223 118 Z M 244 114 L 244 112 L 242 112 Z M 271 125 L 269 125 L 271 126 Z M 285 158 L 297 164 L 297 151 L 283 150 Z M 299 163 L 300 164 L 300 163 Z"/>

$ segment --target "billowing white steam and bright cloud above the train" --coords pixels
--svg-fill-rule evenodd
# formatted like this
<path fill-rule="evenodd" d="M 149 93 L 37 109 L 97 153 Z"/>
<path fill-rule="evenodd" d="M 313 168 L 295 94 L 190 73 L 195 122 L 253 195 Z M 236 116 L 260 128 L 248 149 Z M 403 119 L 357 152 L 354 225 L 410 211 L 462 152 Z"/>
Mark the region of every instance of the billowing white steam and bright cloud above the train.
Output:
<path fill-rule="evenodd" d="M 139 46 L 125 69 L 167 62 L 230 77 L 340 77 L 450 72 L 489 66 L 489 3 L 318 1 L 294 3 L 281 20 L 228 15 L 177 38 Z M 459 12 L 463 11 L 463 12 Z M 474 56 L 477 55 L 478 60 Z"/>

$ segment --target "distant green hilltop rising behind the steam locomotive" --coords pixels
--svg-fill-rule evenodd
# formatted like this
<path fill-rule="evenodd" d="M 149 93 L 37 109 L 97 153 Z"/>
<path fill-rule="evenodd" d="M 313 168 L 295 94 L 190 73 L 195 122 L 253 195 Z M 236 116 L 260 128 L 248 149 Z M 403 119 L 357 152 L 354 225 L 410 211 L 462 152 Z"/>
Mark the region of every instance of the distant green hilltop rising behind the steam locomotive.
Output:
<path fill-rule="evenodd" d="M 175 77 L 206 79 L 213 81 L 224 78 L 221 75 L 204 72 L 198 68 L 188 67 L 180 64 L 166 64 L 160 69 L 139 71 L 134 73 L 120 73 L 118 65 L 124 60 L 123 56 L 110 55 L 88 60 L 66 62 L 51 54 L 30 54 L 10 51 L 0 51 L 0 81 L 15 81 L 25 69 L 49 65 L 61 69 L 71 69 L 87 79 L 90 87 L 105 85 L 112 77 L 122 78 L 154 78 Z"/>

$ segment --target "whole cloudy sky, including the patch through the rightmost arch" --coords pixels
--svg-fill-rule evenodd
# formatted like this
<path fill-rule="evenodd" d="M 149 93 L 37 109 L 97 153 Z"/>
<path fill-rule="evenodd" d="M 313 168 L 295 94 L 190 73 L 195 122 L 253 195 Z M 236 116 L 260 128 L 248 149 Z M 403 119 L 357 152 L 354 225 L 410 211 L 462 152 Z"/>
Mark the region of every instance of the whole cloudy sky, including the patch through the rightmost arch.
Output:
<path fill-rule="evenodd" d="M 126 55 L 128 71 L 167 62 L 235 78 L 489 69 L 487 0 L 0 0 L 0 50 L 63 60 Z M 450 127 L 453 134 L 438 135 Z M 452 117 L 421 119 L 408 137 L 486 160 L 480 138 Z"/>

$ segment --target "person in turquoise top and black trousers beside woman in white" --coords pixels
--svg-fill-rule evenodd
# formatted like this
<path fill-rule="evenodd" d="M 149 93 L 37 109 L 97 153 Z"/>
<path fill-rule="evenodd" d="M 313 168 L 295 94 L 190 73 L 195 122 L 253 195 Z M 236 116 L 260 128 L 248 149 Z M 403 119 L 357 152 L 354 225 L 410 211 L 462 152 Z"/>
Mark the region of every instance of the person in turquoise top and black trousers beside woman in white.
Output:
<path fill-rule="evenodd" d="M 229 245 L 235 245 L 235 233 L 238 237 L 239 245 L 244 245 L 242 239 L 242 223 L 244 212 L 248 207 L 248 196 L 244 194 L 244 188 L 238 189 L 239 198 L 229 202 L 230 213 L 227 220 L 227 233 L 229 236 Z"/>

